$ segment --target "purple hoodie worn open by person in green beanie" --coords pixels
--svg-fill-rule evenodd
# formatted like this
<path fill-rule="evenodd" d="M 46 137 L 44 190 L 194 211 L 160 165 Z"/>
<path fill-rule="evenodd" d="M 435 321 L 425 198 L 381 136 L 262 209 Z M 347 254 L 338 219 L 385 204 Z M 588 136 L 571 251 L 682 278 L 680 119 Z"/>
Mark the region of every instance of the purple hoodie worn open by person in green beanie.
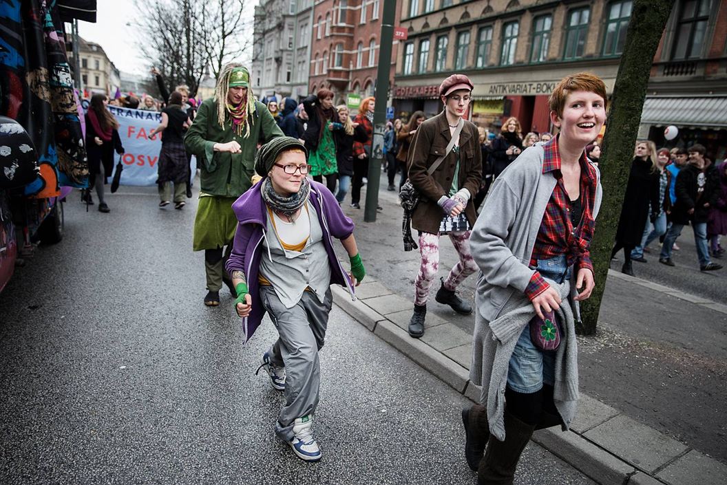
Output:
<path fill-rule="evenodd" d="M 331 283 L 346 286 L 351 298 L 355 299 L 353 285 L 336 257 L 331 239 L 331 237 L 345 239 L 352 235 L 353 221 L 341 211 L 336 198 L 324 184 L 319 184 L 310 179 L 308 179 L 308 182 L 310 183 L 310 197 L 308 200 L 316 211 L 318 221 L 321 223 L 321 229 L 323 229 L 323 243 L 331 266 Z M 261 182 L 254 184 L 232 205 L 239 224 L 235 233 L 232 253 L 227 264 L 225 264 L 225 269 L 230 274 L 233 271 L 244 272 L 247 288 L 252 297 L 252 310 L 243 323 L 245 342 L 252 337 L 265 315 L 265 309 L 262 307 L 262 300 L 260 300 L 260 285 L 257 282 L 257 275 L 260 271 L 260 258 L 262 258 L 262 240 L 266 237 L 265 228 L 268 224 L 268 210 L 265 201 L 262 200 L 261 190 Z"/>

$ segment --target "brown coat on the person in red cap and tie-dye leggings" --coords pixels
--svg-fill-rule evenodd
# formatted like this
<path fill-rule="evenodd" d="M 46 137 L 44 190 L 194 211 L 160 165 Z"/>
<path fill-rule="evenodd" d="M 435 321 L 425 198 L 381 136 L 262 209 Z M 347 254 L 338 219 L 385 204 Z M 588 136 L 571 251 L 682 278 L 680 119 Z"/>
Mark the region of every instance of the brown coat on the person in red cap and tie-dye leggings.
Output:
<path fill-rule="evenodd" d="M 409 168 L 411 184 L 422 195 L 411 217 L 411 227 L 419 231 L 433 234 L 439 232 L 439 224 L 444 213 L 437 205 L 437 200 L 443 195 L 449 195 L 457 155 L 449 152 L 432 175 L 427 174 L 427 168 L 444 153 L 450 139 L 449 123 L 445 113 L 442 112 L 422 123 L 414 134 L 414 141 L 411 142 L 406 166 Z M 474 226 L 477 213 L 473 201 L 482 179 L 482 151 L 477 127 L 470 121 L 465 121 L 465 126 L 459 134 L 459 152 L 459 188 L 470 191 L 465 215 L 470 221 L 470 226 Z"/>

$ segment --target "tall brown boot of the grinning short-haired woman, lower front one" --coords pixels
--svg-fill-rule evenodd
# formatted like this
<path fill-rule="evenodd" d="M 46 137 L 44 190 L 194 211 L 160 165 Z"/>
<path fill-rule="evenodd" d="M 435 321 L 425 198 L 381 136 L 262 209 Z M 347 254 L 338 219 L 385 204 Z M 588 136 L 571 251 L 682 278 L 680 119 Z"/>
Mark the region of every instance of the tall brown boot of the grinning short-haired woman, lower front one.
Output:
<path fill-rule="evenodd" d="M 520 455 L 535 431 L 505 409 L 505 441 L 490 436 L 485 457 L 477 471 L 479 485 L 513 485 Z"/>

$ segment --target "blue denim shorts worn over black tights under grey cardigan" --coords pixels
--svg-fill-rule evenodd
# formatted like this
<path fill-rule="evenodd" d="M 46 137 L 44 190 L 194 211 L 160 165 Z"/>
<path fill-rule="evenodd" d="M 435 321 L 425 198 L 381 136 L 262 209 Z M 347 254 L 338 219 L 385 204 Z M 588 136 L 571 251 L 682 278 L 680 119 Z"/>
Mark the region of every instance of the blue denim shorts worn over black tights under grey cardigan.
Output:
<path fill-rule="evenodd" d="M 572 272 L 565 255 L 539 259 L 531 269 L 537 269 L 542 277 L 559 283 L 568 280 Z M 564 340 L 565 335 L 561 335 L 561 345 Z M 555 352 L 542 351 L 534 346 L 530 340 L 530 326 L 526 325 L 510 356 L 507 386 L 515 392 L 531 394 L 542 389 L 543 383 L 550 386 L 555 383 Z"/>

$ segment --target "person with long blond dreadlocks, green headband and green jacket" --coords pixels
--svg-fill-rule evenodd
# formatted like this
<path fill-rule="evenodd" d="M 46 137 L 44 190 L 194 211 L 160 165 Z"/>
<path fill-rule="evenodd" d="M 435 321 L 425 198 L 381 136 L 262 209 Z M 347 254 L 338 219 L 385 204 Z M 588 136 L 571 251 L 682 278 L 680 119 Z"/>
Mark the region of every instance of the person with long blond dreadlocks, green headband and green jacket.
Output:
<path fill-rule="evenodd" d="M 204 250 L 206 306 L 220 304 L 222 282 L 237 296 L 223 269 L 237 227 L 232 204 L 252 185 L 257 140 L 262 137 L 268 142 L 283 136 L 268 108 L 252 97 L 249 83 L 250 74 L 241 64 L 225 65 L 217 78 L 214 97 L 199 105 L 184 139 L 200 168 L 192 248 Z"/>

